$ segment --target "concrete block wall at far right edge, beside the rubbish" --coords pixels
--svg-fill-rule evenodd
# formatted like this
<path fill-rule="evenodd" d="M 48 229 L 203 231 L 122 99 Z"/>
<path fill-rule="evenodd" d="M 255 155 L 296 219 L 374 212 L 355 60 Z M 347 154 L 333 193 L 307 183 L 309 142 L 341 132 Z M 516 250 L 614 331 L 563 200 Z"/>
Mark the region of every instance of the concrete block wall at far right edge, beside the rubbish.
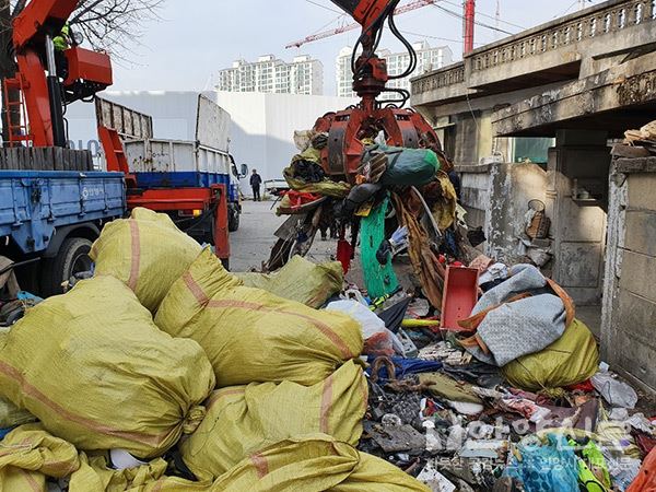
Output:
<path fill-rule="evenodd" d="M 602 355 L 654 394 L 656 157 L 643 171 L 623 169 L 626 161 L 617 161 L 610 179 Z"/>

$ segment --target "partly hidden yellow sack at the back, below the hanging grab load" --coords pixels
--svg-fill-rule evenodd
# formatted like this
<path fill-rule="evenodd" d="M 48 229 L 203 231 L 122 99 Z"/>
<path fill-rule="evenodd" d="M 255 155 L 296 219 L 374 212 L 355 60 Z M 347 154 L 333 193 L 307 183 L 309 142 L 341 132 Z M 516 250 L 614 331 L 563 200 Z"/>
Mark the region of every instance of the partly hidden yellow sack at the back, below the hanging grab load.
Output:
<path fill-rule="evenodd" d="M 234 274 L 246 286 L 263 289 L 315 308 L 341 291 L 344 283 L 344 271 L 339 261 L 316 265 L 301 256 L 294 256 L 273 273 Z"/>

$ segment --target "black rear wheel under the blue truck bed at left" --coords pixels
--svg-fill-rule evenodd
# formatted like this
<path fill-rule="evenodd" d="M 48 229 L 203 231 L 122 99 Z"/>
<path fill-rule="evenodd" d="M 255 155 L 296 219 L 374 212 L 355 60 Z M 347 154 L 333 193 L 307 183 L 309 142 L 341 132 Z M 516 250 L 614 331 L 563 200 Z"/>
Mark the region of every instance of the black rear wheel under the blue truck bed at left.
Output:
<path fill-rule="evenodd" d="M 44 296 L 63 294 L 61 284 L 75 273 L 91 270 L 89 257 L 91 241 L 82 237 L 69 237 L 61 243 L 55 258 L 44 262 L 42 274 L 42 294 Z"/>

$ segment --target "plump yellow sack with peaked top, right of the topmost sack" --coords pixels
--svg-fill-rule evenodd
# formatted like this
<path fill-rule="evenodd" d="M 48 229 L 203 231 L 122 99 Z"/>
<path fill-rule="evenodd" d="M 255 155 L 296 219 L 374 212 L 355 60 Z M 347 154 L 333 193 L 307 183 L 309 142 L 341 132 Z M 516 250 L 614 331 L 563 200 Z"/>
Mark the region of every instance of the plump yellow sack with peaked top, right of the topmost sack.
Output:
<path fill-rule="evenodd" d="M 204 349 L 219 387 L 326 379 L 363 348 L 360 325 L 239 285 L 209 249 L 162 301 L 155 324 Z"/>

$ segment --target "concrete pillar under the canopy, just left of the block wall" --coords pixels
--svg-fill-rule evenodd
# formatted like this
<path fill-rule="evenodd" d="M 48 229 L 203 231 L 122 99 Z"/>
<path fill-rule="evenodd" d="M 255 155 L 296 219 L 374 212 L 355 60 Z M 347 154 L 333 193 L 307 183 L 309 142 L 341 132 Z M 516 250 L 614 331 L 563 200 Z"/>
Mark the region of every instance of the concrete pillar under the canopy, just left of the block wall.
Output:
<path fill-rule="evenodd" d="M 601 304 L 610 148 L 604 131 L 562 130 L 549 151 L 547 213 L 552 220 L 553 279 L 579 306 Z M 573 198 L 573 189 L 590 197 Z"/>

